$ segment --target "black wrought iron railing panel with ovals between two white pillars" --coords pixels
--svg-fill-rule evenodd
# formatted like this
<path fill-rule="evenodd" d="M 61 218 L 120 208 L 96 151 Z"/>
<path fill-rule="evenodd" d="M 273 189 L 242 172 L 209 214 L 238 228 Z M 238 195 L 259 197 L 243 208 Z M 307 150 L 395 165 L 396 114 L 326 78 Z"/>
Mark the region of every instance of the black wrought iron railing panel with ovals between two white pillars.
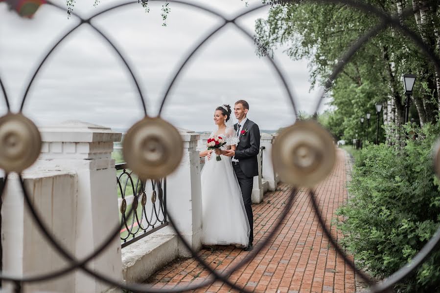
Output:
<path fill-rule="evenodd" d="M 116 164 L 122 247 L 168 226 L 166 178 L 142 181 L 126 163 Z M 140 205 L 139 205 L 140 203 Z M 128 209 L 131 206 L 131 209 Z"/>

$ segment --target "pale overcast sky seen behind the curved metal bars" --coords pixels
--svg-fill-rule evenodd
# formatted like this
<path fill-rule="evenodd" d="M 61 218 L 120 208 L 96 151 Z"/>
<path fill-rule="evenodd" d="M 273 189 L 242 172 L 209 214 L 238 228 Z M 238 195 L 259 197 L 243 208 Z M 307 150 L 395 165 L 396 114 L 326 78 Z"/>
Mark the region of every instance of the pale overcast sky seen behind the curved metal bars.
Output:
<path fill-rule="evenodd" d="M 187 0 L 215 8 L 225 16 L 246 9 L 240 0 Z M 65 6 L 63 0 L 56 3 Z M 89 16 L 121 0 L 77 0 L 74 12 Z M 250 5 L 260 3 L 249 1 Z M 132 4 L 97 17 L 102 29 L 127 57 L 139 77 L 149 114 L 157 114 L 165 86 L 188 50 L 222 21 L 178 3 L 162 27 L 161 3 L 150 1 L 150 13 Z M 240 19 L 254 32 L 263 8 Z M 49 46 L 77 24 L 67 12 L 43 5 L 31 20 L 22 19 L 0 3 L 0 76 L 12 109 L 19 108 L 31 74 Z M 319 89 L 310 89 L 307 61 L 291 61 L 281 50 L 281 64 L 301 111 L 311 112 Z M 0 93 L 1 95 L 1 93 Z M 1 97 L 2 98 L 2 97 Z M 213 128 L 216 106 L 245 99 L 248 117 L 261 129 L 276 130 L 293 123 L 293 109 L 270 63 L 255 56 L 252 40 L 228 24 L 206 43 L 185 67 L 165 104 L 163 117 L 175 126 L 195 131 Z M 0 113 L 5 112 L 0 100 Z M 81 120 L 113 128 L 128 128 L 143 116 L 139 94 L 112 48 L 92 28 L 82 25 L 49 57 L 33 84 L 24 113 L 37 125 Z"/>

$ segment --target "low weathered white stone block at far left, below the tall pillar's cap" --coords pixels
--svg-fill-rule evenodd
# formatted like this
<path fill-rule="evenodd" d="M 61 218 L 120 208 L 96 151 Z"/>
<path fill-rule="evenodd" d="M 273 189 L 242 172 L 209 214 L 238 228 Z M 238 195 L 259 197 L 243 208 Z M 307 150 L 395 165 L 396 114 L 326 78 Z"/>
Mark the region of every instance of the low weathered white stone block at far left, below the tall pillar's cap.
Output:
<path fill-rule="evenodd" d="M 23 173 L 28 196 L 46 227 L 71 254 L 75 253 L 76 175 L 66 171 Z M 2 197 L 1 244 L 3 272 L 36 275 L 67 267 L 68 261 L 50 245 L 25 204 L 18 176 L 9 174 Z M 5 292 L 13 284 L 3 281 Z M 11 291 L 9 291 L 11 290 Z M 75 292 L 75 275 L 25 283 L 23 292 Z"/>

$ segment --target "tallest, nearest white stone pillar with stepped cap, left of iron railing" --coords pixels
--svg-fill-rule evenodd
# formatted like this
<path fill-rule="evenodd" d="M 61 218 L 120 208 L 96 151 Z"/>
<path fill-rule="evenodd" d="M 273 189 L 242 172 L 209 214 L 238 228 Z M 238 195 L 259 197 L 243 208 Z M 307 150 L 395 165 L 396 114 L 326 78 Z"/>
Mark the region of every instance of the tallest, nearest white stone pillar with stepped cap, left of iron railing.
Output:
<path fill-rule="evenodd" d="M 83 258 L 94 251 L 110 230 L 119 224 L 112 151 L 113 143 L 120 141 L 121 133 L 79 121 L 43 127 L 40 132 L 42 154 L 34 168 L 76 173 L 75 256 Z M 122 281 L 119 237 L 115 237 L 88 267 Z M 110 285 L 84 272 L 75 273 L 76 293 L 105 292 L 109 289 Z"/>

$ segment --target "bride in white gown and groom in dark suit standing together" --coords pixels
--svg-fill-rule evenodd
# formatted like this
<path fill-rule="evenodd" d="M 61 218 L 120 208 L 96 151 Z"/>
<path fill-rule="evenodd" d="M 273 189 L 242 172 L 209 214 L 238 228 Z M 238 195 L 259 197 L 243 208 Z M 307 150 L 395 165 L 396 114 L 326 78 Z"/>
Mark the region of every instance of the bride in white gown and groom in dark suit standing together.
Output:
<path fill-rule="evenodd" d="M 200 152 L 201 157 L 207 157 L 201 177 L 202 243 L 205 245 L 254 249 L 251 194 L 254 176 L 258 175 L 260 130 L 246 117 L 248 111 L 246 101 L 237 101 L 234 115 L 238 123 L 233 124 L 230 105 L 217 107 L 214 112 L 217 129 L 210 138 L 219 136 L 226 145 Z M 221 161 L 215 160 L 216 155 L 220 155 Z"/>

